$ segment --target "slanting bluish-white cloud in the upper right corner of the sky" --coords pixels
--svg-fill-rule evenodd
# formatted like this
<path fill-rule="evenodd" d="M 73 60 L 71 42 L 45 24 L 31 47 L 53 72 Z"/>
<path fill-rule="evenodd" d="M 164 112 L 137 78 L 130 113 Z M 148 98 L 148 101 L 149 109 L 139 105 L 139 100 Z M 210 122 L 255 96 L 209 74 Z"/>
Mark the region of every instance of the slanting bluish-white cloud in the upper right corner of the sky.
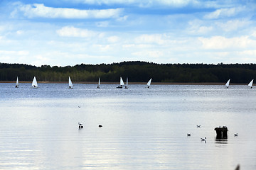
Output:
<path fill-rule="evenodd" d="M 208 13 L 204 18 L 206 19 L 217 19 L 217 18 L 224 18 L 235 16 L 241 11 L 245 11 L 246 8 L 244 6 L 234 7 L 234 8 L 220 8 L 212 13 Z"/>

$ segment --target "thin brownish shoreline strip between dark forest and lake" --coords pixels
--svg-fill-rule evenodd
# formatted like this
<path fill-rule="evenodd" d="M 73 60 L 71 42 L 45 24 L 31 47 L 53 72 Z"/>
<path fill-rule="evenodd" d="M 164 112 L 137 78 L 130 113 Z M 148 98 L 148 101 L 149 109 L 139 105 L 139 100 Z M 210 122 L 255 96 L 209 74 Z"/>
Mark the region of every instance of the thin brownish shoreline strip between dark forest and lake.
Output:
<path fill-rule="evenodd" d="M 12 83 L 16 84 L 16 81 L 0 81 L 0 83 Z M 19 81 L 21 84 L 31 84 L 32 81 Z M 97 81 L 73 81 L 73 84 L 97 84 Z M 68 81 L 38 81 L 38 84 L 68 84 Z M 100 84 L 119 84 L 119 82 L 100 82 Z M 146 82 L 129 82 L 129 84 L 145 84 Z M 223 83 L 162 83 L 162 82 L 152 82 L 152 85 L 223 85 Z M 246 84 L 230 84 L 230 85 L 246 85 Z"/>

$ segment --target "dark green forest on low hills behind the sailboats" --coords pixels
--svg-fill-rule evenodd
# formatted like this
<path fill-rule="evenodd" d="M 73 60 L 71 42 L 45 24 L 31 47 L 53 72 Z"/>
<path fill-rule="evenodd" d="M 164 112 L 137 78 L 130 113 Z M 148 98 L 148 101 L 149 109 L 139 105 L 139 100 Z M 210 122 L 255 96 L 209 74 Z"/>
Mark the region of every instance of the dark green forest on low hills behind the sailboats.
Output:
<path fill-rule="evenodd" d="M 218 83 L 231 79 L 245 84 L 256 78 L 256 64 L 156 64 L 152 62 L 119 62 L 112 64 L 77 64 L 58 67 L 0 63 L 0 81 L 101 81 L 129 82 Z"/>

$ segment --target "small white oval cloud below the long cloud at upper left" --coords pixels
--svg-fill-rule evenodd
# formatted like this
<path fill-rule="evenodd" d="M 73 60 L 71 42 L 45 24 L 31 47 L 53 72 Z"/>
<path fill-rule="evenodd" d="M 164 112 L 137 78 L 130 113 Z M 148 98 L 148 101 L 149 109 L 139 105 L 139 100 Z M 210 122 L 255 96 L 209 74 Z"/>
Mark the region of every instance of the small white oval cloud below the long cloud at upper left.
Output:
<path fill-rule="evenodd" d="M 75 28 L 73 26 L 65 26 L 56 31 L 60 37 L 78 37 L 78 38 L 89 38 L 98 35 L 98 33 L 92 30 Z"/>

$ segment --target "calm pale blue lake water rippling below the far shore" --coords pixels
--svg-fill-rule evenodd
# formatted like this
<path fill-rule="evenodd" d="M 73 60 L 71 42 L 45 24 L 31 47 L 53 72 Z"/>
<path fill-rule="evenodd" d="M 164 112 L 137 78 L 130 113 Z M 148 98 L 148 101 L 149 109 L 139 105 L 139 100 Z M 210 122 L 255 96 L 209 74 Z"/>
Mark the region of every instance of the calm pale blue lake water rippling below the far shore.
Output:
<path fill-rule="evenodd" d="M 256 169 L 248 86 L 14 86 L 0 84 L 0 169 Z"/>

